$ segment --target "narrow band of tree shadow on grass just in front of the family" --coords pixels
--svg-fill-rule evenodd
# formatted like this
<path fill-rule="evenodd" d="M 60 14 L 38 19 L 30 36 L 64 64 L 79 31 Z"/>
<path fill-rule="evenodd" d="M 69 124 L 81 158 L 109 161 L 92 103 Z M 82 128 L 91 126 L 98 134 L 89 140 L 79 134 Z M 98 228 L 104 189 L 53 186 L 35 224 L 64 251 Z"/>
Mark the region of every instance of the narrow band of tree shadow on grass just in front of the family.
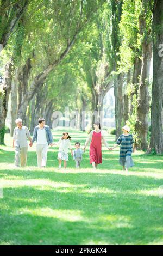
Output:
<path fill-rule="evenodd" d="M 20 179 L 27 181 L 33 180 L 39 185 L 39 180 L 53 181 L 58 184 L 65 182 L 70 185 L 86 185 L 86 187 L 98 187 L 98 188 L 108 188 L 117 190 L 152 190 L 158 188 L 158 186 L 163 185 L 163 179 L 155 179 L 149 176 L 139 176 L 137 174 L 124 175 L 124 173 L 102 173 L 97 170 L 96 172 L 77 172 L 77 173 L 61 173 L 53 172 L 52 170 L 1 170 L 0 177 L 7 180 L 16 180 L 18 182 Z M 36 180 L 36 181 L 35 181 Z M 22 182 L 22 181 L 21 181 Z M 30 185 L 30 184 L 29 184 Z M 53 185 L 52 185 L 53 187 Z M 54 186 L 55 188 L 55 186 Z"/>

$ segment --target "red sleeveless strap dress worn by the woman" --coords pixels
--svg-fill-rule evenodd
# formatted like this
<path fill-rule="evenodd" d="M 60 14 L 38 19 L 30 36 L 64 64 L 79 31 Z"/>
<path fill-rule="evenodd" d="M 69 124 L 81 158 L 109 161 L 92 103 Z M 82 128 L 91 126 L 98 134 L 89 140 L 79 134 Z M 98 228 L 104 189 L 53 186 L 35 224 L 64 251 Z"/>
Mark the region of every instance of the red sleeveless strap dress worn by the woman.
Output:
<path fill-rule="evenodd" d="M 101 131 L 93 131 L 92 141 L 90 144 L 90 163 L 102 163 L 102 149 L 101 149 Z"/>

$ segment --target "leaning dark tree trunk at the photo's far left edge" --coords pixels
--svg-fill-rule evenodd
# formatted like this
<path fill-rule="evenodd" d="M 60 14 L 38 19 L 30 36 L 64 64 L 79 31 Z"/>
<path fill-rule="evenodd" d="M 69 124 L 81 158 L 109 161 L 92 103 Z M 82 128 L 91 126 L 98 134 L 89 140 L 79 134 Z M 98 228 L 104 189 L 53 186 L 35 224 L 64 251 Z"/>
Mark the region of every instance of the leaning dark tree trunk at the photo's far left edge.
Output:
<path fill-rule="evenodd" d="M 5 133 L 5 119 L 8 111 L 8 101 L 11 92 L 11 81 L 12 81 L 12 62 L 5 65 L 5 74 L 2 84 L 2 92 L 0 90 L 0 145 L 4 144 L 4 133 Z"/>

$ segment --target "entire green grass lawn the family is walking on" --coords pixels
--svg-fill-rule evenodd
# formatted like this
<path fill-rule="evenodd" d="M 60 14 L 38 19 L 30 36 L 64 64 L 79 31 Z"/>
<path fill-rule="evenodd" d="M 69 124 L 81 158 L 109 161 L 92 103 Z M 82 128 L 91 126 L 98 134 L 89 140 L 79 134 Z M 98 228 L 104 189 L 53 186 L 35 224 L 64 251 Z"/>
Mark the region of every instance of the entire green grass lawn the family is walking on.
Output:
<path fill-rule="evenodd" d="M 61 131 L 53 131 L 57 142 Z M 86 133 L 70 131 L 72 145 Z M 109 145 L 114 136 L 108 136 Z M 58 148 L 48 150 L 45 169 L 29 148 L 26 168 L 14 167 L 12 138 L 0 148 L 0 245 L 163 245 L 163 156 L 133 154 L 126 175 L 118 148 L 103 147 L 103 164 L 93 171 L 89 147 L 82 167 L 70 154 L 58 169 Z M 3 196 L 2 196 L 3 191 Z"/>

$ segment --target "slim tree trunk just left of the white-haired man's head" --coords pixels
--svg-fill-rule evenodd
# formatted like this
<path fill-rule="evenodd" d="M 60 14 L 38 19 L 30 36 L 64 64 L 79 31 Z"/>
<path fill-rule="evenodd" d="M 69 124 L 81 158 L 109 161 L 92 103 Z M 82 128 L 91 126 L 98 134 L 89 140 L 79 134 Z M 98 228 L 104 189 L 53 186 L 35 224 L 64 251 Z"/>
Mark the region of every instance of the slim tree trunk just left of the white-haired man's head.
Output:
<path fill-rule="evenodd" d="M 13 136 L 15 128 L 15 120 L 17 118 L 17 75 L 18 69 L 16 70 L 15 77 L 12 78 L 11 83 L 11 124 L 10 124 L 10 136 Z"/>

